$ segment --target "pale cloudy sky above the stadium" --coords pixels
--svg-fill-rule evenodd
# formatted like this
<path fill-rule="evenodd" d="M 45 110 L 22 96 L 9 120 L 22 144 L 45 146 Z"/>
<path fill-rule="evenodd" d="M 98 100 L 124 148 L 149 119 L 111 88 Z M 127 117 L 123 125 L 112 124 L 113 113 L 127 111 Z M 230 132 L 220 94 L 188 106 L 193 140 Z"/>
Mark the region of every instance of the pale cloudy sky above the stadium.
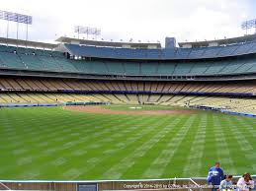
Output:
<path fill-rule="evenodd" d="M 98 39 L 114 41 L 219 39 L 243 35 L 241 23 L 256 18 L 255 0 L 0 0 L 0 5 L 33 16 L 29 39 L 49 42 L 77 37 L 76 25 L 99 28 Z M 16 38 L 16 27 L 9 24 L 9 37 Z M 26 38 L 26 29 L 19 25 L 19 38 Z M 0 36 L 6 33 L 7 23 L 0 21 Z"/>

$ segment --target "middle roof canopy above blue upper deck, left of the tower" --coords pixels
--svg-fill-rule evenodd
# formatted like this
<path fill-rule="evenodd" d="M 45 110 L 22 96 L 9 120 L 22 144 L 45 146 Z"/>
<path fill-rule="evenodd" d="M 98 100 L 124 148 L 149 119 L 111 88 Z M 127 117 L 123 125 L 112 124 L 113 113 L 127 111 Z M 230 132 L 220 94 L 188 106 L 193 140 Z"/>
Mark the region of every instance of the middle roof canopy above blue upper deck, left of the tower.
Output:
<path fill-rule="evenodd" d="M 142 42 L 118 42 L 118 41 L 103 41 L 103 40 L 91 40 L 91 39 L 78 39 L 74 37 L 61 36 L 55 41 L 61 43 L 82 44 L 91 46 L 103 46 L 103 47 L 123 47 L 123 48 L 161 48 L 161 43 L 142 43 Z"/>

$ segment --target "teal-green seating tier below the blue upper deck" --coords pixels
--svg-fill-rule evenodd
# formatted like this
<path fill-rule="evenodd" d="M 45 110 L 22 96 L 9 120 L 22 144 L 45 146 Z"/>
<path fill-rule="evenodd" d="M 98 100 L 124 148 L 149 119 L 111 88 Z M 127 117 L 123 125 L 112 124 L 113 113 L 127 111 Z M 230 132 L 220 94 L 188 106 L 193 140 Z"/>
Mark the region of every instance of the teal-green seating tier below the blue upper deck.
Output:
<path fill-rule="evenodd" d="M 199 51 L 202 53 L 201 50 Z M 195 50 L 193 54 L 201 53 Z M 17 49 L 1 45 L 0 68 L 89 75 L 212 76 L 255 73 L 256 59 L 250 56 L 207 61 L 75 60 L 66 58 L 62 52 L 22 47 Z"/>

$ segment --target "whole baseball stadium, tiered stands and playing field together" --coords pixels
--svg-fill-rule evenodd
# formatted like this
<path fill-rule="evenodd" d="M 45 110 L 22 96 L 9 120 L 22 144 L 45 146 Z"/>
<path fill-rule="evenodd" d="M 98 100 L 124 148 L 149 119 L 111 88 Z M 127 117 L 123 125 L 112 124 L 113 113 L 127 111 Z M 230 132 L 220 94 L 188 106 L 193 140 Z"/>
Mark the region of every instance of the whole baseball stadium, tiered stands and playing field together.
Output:
<path fill-rule="evenodd" d="M 256 34 L 0 37 L 0 190 L 202 190 L 256 174 L 255 117 Z"/>

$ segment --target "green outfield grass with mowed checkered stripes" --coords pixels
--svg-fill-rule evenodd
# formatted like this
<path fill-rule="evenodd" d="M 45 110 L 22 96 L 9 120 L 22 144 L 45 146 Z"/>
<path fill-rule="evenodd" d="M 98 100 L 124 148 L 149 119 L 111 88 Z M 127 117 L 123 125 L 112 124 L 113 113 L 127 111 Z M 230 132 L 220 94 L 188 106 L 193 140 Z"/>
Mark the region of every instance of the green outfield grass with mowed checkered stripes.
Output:
<path fill-rule="evenodd" d="M 1 108 L 0 151 L 0 179 L 204 177 L 215 160 L 225 173 L 253 174 L 256 119 L 206 111 L 103 115 Z"/>

